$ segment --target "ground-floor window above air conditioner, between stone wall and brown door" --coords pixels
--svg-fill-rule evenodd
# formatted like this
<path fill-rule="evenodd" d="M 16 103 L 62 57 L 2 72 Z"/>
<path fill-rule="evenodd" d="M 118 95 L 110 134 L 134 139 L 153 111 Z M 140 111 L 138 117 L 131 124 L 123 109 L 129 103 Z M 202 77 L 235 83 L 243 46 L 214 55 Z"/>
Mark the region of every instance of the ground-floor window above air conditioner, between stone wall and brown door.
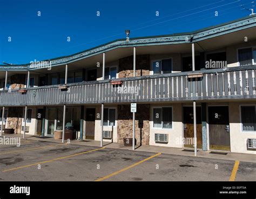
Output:
<path fill-rule="evenodd" d="M 172 128 L 172 108 L 153 108 L 153 127 Z"/>

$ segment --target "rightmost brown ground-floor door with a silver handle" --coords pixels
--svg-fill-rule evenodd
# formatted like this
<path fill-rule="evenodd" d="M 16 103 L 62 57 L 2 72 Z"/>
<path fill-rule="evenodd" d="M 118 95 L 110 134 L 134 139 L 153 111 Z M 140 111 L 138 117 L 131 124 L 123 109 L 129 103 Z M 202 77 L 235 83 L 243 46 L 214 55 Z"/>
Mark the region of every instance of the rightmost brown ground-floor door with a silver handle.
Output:
<path fill-rule="evenodd" d="M 208 107 L 210 149 L 230 150 L 228 106 Z"/>

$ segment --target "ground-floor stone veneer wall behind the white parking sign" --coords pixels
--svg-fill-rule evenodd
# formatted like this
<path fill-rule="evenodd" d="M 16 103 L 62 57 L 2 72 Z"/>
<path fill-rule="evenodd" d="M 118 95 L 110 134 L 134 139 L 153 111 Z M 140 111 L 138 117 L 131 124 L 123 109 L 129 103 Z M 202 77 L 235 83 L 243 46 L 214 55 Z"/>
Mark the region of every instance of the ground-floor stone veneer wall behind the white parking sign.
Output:
<path fill-rule="evenodd" d="M 124 138 L 132 138 L 132 113 L 130 105 L 118 105 L 117 142 L 124 143 Z M 149 145 L 150 105 L 137 104 L 135 114 L 135 138 L 138 145 Z"/>

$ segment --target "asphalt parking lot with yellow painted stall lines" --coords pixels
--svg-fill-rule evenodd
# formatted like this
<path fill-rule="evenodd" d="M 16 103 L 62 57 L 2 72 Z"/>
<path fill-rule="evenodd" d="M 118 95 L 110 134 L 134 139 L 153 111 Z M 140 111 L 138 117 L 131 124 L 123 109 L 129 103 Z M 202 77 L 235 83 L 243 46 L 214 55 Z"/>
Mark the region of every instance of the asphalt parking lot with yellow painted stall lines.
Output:
<path fill-rule="evenodd" d="M 0 181 L 255 181 L 256 163 L 22 140 L 0 146 Z"/>

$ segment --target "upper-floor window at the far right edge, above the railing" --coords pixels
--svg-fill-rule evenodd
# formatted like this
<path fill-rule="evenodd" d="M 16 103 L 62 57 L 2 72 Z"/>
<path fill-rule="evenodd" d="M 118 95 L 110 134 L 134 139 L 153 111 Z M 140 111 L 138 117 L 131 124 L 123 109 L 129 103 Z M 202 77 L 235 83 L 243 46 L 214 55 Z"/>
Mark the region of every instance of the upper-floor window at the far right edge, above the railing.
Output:
<path fill-rule="evenodd" d="M 256 64 L 256 49 L 252 49 L 251 47 L 247 49 L 239 49 L 238 50 L 238 61 L 240 66 L 249 66 L 252 64 Z"/>

